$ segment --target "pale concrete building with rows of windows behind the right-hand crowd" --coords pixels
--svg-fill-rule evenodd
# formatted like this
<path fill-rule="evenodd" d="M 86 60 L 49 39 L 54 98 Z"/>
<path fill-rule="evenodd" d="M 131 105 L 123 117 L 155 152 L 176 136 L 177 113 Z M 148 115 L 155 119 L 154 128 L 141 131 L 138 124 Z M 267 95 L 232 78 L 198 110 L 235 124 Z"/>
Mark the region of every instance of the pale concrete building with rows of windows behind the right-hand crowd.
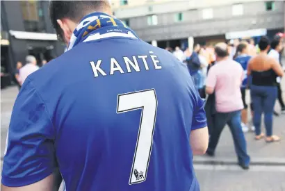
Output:
<path fill-rule="evenodd" d="M 284 31 L 284 1 L 189 0 L 111 1 L 122 19 L 147 42 L 158 47 L 213 44 L 220 40 L 272 37 Z"/>

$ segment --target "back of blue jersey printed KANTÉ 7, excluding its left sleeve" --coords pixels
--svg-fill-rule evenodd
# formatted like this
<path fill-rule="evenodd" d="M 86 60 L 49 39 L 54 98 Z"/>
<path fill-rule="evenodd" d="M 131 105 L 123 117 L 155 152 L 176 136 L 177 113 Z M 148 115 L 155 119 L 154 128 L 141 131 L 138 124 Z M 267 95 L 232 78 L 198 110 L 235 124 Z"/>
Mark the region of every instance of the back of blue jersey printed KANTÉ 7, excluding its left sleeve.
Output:
<path fill-rule="evenodd" d="M 66 190 L 191 190 L 189 137 L 206 126 L 204 101 L 171 53 L 129 38 L 83 42 L 29 81 Z"/>

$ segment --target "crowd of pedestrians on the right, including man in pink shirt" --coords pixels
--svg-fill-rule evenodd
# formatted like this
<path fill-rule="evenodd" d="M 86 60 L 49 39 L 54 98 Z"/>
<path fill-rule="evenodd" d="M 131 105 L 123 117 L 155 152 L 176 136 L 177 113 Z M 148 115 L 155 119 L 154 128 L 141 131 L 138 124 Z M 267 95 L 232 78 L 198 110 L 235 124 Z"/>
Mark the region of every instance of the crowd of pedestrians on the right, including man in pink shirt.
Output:
<path fill-rule="evenodd" d="M 271 41 L 263 36 L 257 44 L 253 39 L 220 42 L 215 47 L 195 44 L 192 52 L 186 49 L 184 53 L 176 47 L 174 56 L 187 65 L 200 97 L 207 98 L 205 110 L 210 139 L 206 153 L 209 156 L 214 156 L 226 124 L 233 136 L 238 164 L 243 169 L 250 165 L 244 133 L 254 131 L 255 140 L 280 140 L 273 134 L 272 121 L 274 114 L 279 115 L 274 110 L 277 99 L 281 113 L 285 113 L 280 85 L 284 75 L 280 56 L 284 50 L 283 39 L 284 34 L 279 33 Z M 251 119 L 248 119 L 249 110 Z M 261 131 L 262 114 L 266 134 Z"/>

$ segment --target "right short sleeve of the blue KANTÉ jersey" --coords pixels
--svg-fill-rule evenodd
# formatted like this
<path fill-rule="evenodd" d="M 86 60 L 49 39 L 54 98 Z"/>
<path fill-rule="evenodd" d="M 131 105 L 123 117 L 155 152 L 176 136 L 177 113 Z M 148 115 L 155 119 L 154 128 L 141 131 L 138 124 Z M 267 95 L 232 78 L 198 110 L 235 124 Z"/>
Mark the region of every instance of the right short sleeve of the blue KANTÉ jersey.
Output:
<path fill-rule="evenodd" d="M 199 96 L 199 92 L 196 91 L 196 105 L 193 110 L 193 119 L 191 131 L 197 128 L 203 128 L 207 126 L 206 112 L 204 110 L 205 100 Z"/>

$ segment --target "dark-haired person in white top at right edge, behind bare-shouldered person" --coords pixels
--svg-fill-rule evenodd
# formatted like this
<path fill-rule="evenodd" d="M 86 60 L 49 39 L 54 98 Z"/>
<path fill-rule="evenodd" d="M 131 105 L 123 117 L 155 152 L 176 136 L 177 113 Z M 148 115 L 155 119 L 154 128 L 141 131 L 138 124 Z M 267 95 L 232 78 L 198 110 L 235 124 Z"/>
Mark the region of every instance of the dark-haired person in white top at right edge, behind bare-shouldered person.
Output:
<path fill-rule="evenodd" d="M 280 52 L 283 49 L 282 46 L 282 40 L 281 38 L 275 38 L 272 40 L 271 44 L 270 44 L 271 50 L 268 53 L 268 56 L 274 58 L 277 63 L 279 63 L 279 65 L 281 65 L 282 67 L 282 63 L 281 63 L 281 59 L 280 59 Z M 282 88 L 281 88 L 281 81 L 282 78 L 280 76 L 278 76 L 276 78 L 277 81 L 277 99 L 279 101 L 280 107 L 281 107 L 281 113 L 285 113 L 285 104 L 283 101 L 283 97 L 282 97 Z"/>

